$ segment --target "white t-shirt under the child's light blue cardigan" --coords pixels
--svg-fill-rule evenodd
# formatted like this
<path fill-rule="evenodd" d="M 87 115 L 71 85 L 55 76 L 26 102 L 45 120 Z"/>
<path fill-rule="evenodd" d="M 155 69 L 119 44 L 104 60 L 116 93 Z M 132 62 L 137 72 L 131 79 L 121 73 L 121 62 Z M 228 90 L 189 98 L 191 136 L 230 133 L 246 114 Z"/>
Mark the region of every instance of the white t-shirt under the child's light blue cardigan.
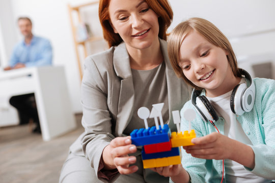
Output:
<path fill-rule="evenodd" d="M 244 83 L 245 79 L 242 78 L 240 83 Z M 209 98 L 210 104 L 213 106 L 215 112 L 218 116 L 222 116 L 225 119 L 224 125 L 224 135 L 229 138 L 235 139 L 244 144 L 252 145 L 251 140 L 244 133 L 239 121 L 236 119 L 236 114 L 231 111 L 230 108 L 230 97 L 232 90 L 224 95 Z M 226 182 L 270 182 L 265 178 L 259 177 L 254 173 L 246 170 L 243 165 L 225 159 L 225 172 L 226 172 Z"/>

